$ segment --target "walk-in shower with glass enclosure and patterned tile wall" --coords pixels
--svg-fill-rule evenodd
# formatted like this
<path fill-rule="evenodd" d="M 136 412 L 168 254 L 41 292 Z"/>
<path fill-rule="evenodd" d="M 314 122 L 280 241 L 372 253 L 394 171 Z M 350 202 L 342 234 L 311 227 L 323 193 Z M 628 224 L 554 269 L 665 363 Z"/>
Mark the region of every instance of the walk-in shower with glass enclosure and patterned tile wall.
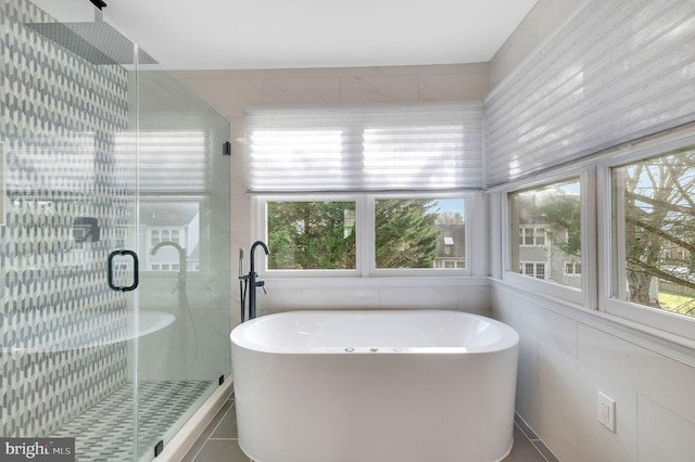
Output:
<path fill-rule="evenodd" d="M 78 461 L 152 460 L 230 373 L 229 125 L 155 59 L 0 0 L 0 437 Z"/>

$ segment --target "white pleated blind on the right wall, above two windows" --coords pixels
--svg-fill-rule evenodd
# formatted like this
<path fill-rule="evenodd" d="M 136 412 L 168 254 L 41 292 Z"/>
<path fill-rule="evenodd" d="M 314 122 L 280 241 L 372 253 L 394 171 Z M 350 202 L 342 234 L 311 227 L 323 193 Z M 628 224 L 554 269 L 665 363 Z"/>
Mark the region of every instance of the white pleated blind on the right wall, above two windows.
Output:
<path fill-rule="evenodd" d="M 485 185 L 695 120 L 695 2 L 590 0 L 485 99 Z"/>

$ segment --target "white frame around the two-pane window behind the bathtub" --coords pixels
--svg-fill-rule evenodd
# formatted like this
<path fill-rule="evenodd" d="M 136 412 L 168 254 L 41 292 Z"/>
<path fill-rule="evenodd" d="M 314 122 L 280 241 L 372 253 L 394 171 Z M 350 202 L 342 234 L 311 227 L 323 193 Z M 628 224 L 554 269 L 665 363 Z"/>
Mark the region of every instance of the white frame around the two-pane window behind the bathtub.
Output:
<path fill-rule="evenodd" d="M 473 274 L 473 262 L 477 260 L 472 254 L 473 224 L 471 220 L 479 219 L 482 192 L 356 192 L 356 193 L 326 193 L 326 194 L 252 194 L 252 235 L 267 242 L 266 204 L 274 201 L 354 201 L 356 210 L 356 269 L 354 270 L 271 270 L 267 268 L 267 260 L 258 265 L 257 272 L 267 279 L 292 278 L 441 278 L 441 277 L 470 277 Z M 377 200 L 384 198 L 462 198 L 465 201 L 465 233 L 466 233 L 466 268 L 376 268 L 375 239 L 375 204 Z M 476 213 L 478 211 L 478 213 Z M 483 229 L 483 223 L 478 223 L 476 229 Z M 273 249 L 270 249 L 273 252 Z"/>

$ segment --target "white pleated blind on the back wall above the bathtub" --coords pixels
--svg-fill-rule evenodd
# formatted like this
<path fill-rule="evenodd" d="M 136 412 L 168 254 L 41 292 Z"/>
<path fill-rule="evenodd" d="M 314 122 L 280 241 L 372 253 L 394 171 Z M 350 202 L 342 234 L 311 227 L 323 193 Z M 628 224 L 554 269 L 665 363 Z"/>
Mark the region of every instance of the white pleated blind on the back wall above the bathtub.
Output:
<path fill-rule="evenodd" d="M 254 193 L 482 187 L 482 104 L 247 112 Z"/>

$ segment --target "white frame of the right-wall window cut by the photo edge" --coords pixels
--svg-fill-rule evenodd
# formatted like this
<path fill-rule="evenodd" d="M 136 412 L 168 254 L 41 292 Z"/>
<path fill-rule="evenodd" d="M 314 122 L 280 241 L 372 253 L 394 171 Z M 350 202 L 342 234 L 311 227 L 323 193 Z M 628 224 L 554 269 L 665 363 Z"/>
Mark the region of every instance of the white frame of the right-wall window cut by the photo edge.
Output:
<path fill-rule="evenodd" d="M 597 194 L 612 197 L 611 169 L 650 157 L 666 155 L 670 151 L 695 145 L 695 129 L 685 133 L 664 133 L 645 141 L 635 147 L 628 147 L 621 152 L 597 162 Z M 665 310 L 657 310 L 644 305 L 622 300 L 612 296 L 614 268 L 616 254 L 614 252 L 612 232 L 612 200 L 602 201 L 597 206 L 598 235 L 598 310 L 624 320 L 628 324 L 639 324 L 642 331 L 664 337 L 677 335 L 695 339 L 695 319 Z M 616 251 L 619 251 L 620 245 Z M 624 247 L 624 245 L 623 245 Z"/>

